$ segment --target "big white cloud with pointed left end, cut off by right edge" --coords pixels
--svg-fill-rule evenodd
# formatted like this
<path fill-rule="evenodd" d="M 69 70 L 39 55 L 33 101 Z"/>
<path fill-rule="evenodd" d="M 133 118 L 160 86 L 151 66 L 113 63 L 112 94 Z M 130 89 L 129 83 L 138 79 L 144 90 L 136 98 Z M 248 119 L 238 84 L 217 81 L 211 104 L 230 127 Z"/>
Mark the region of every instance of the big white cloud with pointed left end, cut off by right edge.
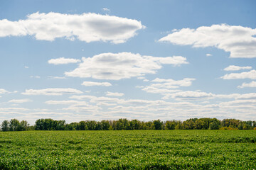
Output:
<path fill-rule="evenodd" d="M 183 28 L 161 38 L 160 42 L 193 47 L 217 47 L 230 52 L 231 58 L 256 57 L 256 29 L 227 24 Z"/>

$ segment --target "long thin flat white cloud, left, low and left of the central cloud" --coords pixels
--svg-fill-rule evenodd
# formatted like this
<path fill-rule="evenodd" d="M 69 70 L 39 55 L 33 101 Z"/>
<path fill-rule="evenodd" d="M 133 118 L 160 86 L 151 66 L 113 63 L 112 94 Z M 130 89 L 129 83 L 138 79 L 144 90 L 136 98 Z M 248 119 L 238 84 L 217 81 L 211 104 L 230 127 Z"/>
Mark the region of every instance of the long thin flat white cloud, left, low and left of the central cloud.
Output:
<path fill-rule="evenodd" d="M 61 96 L 63 94 L 82 94 L 82 91 L 71 88 L 51 88 L 51 89 L 26 89 L 23 95 L 47 95 L 47 96 Z"/>

